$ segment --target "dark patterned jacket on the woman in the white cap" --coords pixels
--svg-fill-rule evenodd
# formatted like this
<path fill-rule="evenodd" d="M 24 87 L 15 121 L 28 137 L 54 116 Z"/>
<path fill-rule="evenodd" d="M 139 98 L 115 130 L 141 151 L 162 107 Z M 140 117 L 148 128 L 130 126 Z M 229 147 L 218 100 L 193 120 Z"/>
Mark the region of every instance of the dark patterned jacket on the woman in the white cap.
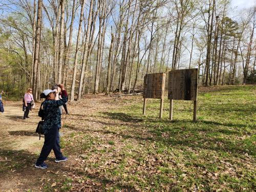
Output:
<path fill-rule="evenodd" d="M 61 97 L 62 98 L 59 100 L 46 99 L 42 105 L 42 108 L 46 114 L 45 121 L 42 126 L 45 135 L 48 134 L 52 127 L 61 127 L 61 114 L 59 111 L 59 106 L 65 104 L 68 101 L 68 94 L 66 90 L 61 91 Z"/>

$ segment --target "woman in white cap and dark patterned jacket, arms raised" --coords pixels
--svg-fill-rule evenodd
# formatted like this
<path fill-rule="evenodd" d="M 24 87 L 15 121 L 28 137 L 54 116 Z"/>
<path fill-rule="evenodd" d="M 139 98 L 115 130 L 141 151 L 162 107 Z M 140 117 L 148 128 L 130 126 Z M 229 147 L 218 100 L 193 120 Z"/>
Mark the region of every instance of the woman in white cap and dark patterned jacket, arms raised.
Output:
<path fill-rule="evenodd" d="M 43 92 L 43 95 L 46 98 L 44 104 L 42 105 L 45 111 L 45 121 L 42 125 L 42 130 L 44 131 L 45 135 L 45 142 L 44 146 L 42 146 L 40 156 L 35 164 L 35 167 L 37 168 L 48 167 L 44 161 L 47 159 L 52 150 L 56 157 L 55 162 L 68 160 L 68 158 L 64 157 L 60 152 L 59 145 L 59 129 L 61 127 L 61 115 L 59 106 L 68 101 L 68 94 L 63 84 L 58 84 L 58 87 L 61 89 L 62 95 L 62 98 L 59 100 L 55 100 L 56 90 L 45 90 Z"/>

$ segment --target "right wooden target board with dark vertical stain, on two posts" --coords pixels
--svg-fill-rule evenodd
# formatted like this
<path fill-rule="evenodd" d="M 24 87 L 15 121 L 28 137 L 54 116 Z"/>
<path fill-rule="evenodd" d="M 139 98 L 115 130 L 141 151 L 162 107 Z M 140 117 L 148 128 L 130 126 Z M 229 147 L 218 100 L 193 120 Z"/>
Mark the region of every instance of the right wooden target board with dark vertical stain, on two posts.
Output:
<path fill-rule="evenodd" d="M 173 119 L 173 100 L 194 101 L 194 116 L 197 119 L 198 69 L 182 69 L 169 72 L 168 99 L 170 99 L 170 116 Z"/>

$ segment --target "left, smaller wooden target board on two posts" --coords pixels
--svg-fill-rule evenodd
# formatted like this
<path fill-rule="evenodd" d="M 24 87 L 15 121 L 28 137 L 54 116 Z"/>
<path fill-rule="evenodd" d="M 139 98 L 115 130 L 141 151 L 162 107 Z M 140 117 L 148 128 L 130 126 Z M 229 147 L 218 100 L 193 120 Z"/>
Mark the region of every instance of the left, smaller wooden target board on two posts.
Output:
<path fill-rule="evenodd" d="M 160 103 L 160 115 L 162 118 L 163 113 L 163 98 L 164 98 L 164 86 L 165 86 L 165 73 L 153 73 L 146 74 L 144 76 L 144 87 L 143 87 L 143 114 L 146 112 L 146 98 L 161 99 Z"/>

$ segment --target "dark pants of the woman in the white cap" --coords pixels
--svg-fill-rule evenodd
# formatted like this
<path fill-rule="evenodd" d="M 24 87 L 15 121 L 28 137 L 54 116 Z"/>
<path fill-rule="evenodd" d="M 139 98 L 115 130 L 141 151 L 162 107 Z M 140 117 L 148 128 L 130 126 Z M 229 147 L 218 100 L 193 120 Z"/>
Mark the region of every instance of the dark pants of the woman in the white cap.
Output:
<path fill-rule="evenodd" d="M 36 163 L 40 164 L 44 162 L 52 150 L 56 159 L 60 159 L 61 157 L 63 157 L 62 153 L 60 152 L 59 129 L 57 126 L 52 127 L 45 135 L 44 146 L 42 146 L 40 156 L 37 159 Z"/>

